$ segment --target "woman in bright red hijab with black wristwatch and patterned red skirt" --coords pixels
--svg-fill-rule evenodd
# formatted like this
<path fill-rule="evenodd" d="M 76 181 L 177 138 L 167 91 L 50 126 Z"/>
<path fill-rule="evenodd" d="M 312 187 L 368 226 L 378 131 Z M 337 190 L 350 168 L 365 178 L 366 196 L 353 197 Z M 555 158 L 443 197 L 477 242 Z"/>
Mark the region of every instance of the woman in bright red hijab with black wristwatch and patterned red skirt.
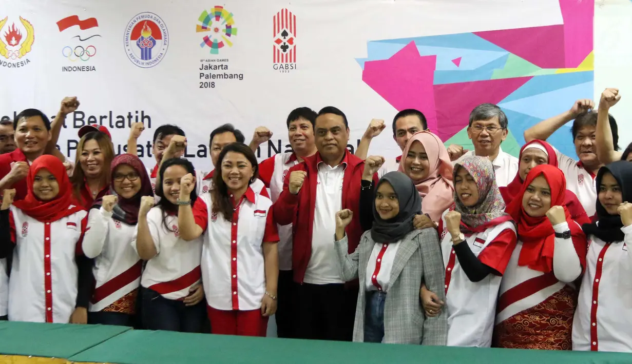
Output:
<path fill-rule="evenodd" d="M 561 170 L 538 165 L 507 206 L 518 226 L 518 246 L 502 276 L 496 347 L 571 349 L 586 236 L 564 206 L 565 191 Z"/>

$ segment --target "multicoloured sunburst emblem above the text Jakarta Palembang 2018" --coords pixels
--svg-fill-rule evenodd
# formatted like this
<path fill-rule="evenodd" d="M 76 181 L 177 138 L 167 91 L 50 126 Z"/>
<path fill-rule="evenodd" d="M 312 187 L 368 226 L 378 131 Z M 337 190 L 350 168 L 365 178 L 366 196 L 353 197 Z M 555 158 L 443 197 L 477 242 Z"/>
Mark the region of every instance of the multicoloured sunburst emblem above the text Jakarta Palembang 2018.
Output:
<path fill-rule="evenodd" d="M 216 5 L 210 9 L 210 13 L 202 11 L 198 21 L 200 24 L 195 26 L 195 32 L 208 32 L 202 38 L 201 48 L 209 47 L 210 54 L 219 54 L 219 49 L 226 45 L 233 47 L 231 40 L 237 35 L 233 13 L 229 13 L 223 6 Z"/>

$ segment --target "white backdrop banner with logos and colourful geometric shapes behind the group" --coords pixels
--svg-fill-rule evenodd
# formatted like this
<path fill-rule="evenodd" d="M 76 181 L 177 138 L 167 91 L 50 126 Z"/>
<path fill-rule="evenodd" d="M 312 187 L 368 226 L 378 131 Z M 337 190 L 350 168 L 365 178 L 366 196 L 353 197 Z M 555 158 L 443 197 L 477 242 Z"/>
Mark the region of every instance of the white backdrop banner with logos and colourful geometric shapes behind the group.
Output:
<path fill-rule="evenodd" d="M 58 143 L 72 158 L 83 125 L 109 127 L 121 153 L 140 121 L 138 150 L 151 167 L 154 130 L 173 123 L 188 136 L 186 157 L 210 170 L 214 127 L 231 122 L 246 143 L 269 127 L 258 153 L 266 158 L 289 149 L 292 109 L 327 105 L 348 116 L 352 150 L 377 118 L 389 127 L 370 153 L 399 155 L 390 124 L 409 107 L 444 142 L 471 148 L 468 114 L 482 102 L 506 112 L 503 149 L 516 155 L 525 129 L 578 98 L 598 101 L 607 86 L 623 94 L 612 110 L 619 144 L 632 140 L 622 127 L 632 109 L 629 0 L 0 4 L 0 116 L 35 107 L 52 117 L 63 97 L 77 96 Z M 569 126 L 550 141 L 575 156 Z"/>

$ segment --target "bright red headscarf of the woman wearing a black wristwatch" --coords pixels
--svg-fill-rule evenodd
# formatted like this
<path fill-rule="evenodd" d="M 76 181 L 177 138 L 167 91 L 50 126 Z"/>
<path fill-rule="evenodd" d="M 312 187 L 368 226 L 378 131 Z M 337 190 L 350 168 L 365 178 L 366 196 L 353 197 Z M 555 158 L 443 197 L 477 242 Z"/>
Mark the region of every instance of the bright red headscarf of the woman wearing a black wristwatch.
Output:
<path fill-rule="evenodd" d="M 523 243 L 520 257 L 518 258 L 518 266 L 528 266 L 536 271 L 549 273 L 553 269 L 553 250 L 555 246 L 555 230 L 551 225 L 547 216 L 532 217 L 526 214 L 523 207 L 523 196 L 526 188 L 540 175 L 544 176 L 549 184 L 551 206 L 562 206 L 566 213 L 566 222 L 571 229 L 573 244 L 576 245 L 575 250 L 581 251 L 581 242 L 583 242 L 583 251 L 585 255 L 586 236 L 575 221 L 571 219 L 571 215 L 564 206 L 564 198 L 566 191 L 566 177 L 564 173 L 557 167 L 552 165 L 538 165 L 526 175 L 525 183 L 516 197 L 507 206 L 507 213 L 511 214 L 514 221 L 518 225 L 518 240 Z M 580 249 L 578 249 L 580 248 Z M 580 261 L 581 261 L 581 254 Z"/>

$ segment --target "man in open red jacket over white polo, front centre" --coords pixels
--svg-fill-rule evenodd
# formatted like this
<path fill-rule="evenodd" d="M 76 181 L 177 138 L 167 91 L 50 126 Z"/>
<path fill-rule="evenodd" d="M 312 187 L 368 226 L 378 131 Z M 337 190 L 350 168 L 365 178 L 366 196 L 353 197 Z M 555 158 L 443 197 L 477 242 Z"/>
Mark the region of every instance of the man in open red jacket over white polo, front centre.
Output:
<path fill-rule="evenodd" d="M 355 251 L 363 233 L 358 210 L 364 163 L 347 150 L 349 126 L 341 110 L 320 110 L 314 134 L 318 153 L 290 168 L 274 217 L 280 225 L 293 223 L 298 338 L 351 341 L 358 283 L 340 278 L 335 216 L 341 209 L 354 212 L 346 233 L 349 252 Z"/>

